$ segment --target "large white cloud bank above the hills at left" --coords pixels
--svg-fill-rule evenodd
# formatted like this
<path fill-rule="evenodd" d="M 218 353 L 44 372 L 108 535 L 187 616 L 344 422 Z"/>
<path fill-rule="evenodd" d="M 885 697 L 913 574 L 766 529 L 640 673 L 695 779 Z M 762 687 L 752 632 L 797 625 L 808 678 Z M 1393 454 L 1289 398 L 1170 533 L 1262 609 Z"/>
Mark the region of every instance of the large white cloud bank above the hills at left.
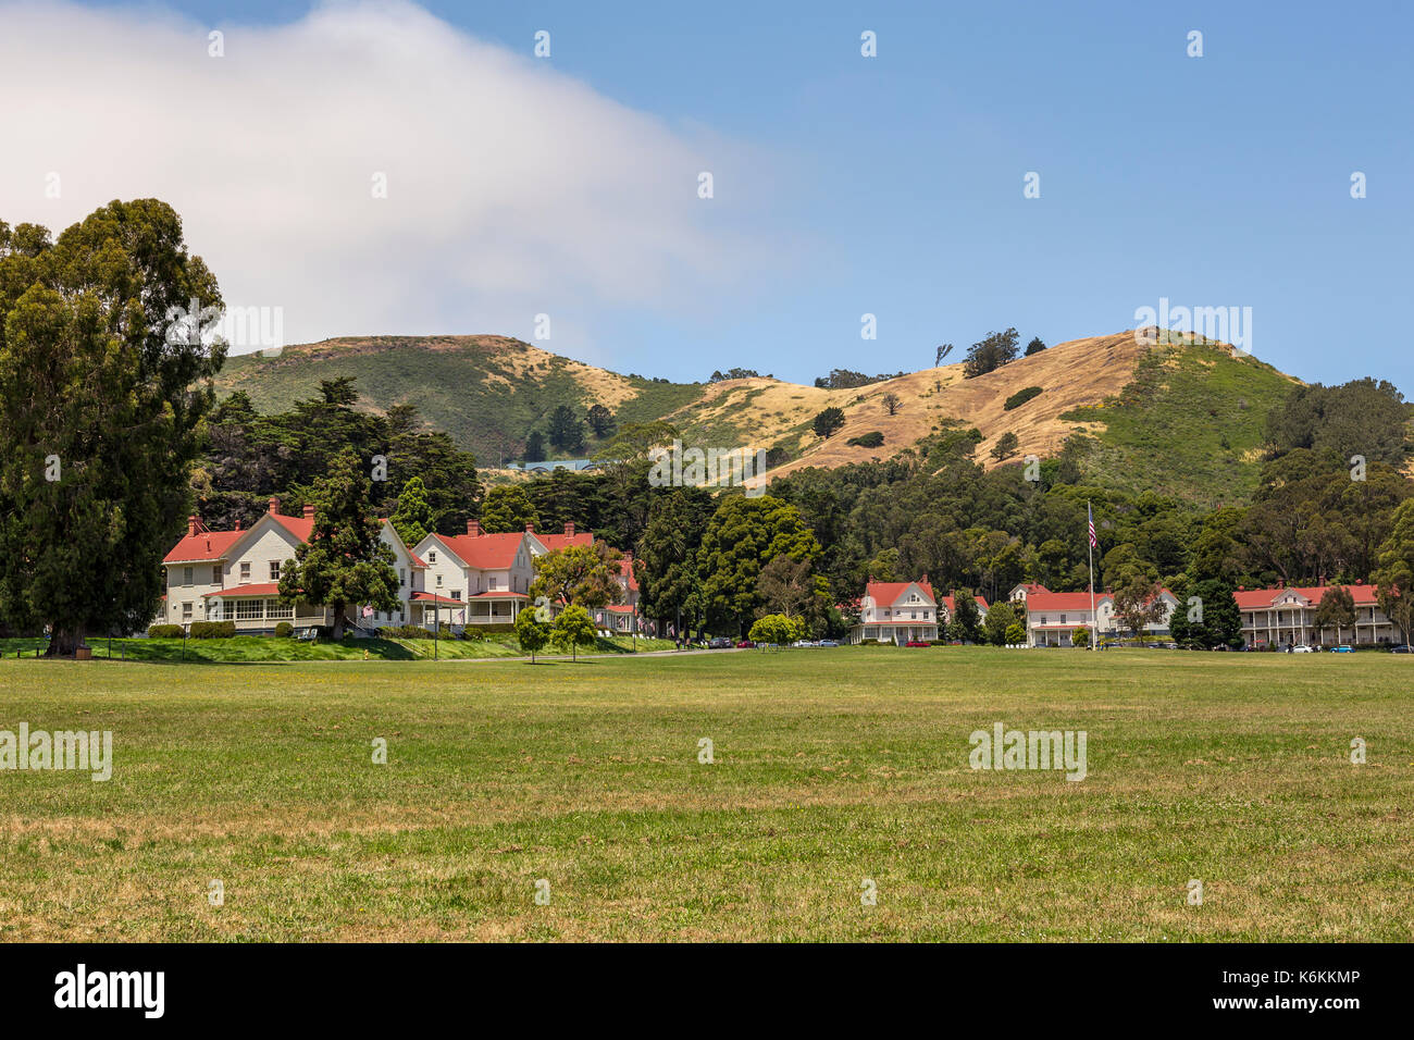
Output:
<path fill-rule="evenodd" d="M 58 231 L 113 198 L 163 198 L 226 303 L 281 307 L 288 342 L 529 340 L 549 313 L 543 345 L 583 354 L 595 316 L 706 308 L 781 259 L 751 212 L 769 205 L 759 154 L 411 4 L 279 27 L 0 4 L 0 218 Z M 700 170 L 718 198 L 697 198 Z"/>

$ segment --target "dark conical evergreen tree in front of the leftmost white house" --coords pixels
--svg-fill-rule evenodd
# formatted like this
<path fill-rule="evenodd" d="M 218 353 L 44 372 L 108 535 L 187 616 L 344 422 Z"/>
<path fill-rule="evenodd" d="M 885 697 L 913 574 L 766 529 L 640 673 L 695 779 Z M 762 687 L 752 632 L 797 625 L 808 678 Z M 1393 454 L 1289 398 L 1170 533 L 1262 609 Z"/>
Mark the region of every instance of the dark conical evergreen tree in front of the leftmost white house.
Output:
<path fill-rule="evenodd" d="M 363 466 L 352 449 L 334 457 L 314 485 L 314 529 L 280 569 L 280 600 L 304 600 L 334 611 L 334 638 L 344 638 L 344 614 L 358 604 L 397 607 L 397 559 L 379 538 Z"/>

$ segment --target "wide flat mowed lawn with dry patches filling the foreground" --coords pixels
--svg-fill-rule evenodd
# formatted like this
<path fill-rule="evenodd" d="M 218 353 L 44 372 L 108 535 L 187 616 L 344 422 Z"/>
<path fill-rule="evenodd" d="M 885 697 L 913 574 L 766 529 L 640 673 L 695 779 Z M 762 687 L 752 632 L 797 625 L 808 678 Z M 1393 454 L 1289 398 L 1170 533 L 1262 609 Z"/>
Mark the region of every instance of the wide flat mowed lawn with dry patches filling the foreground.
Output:
<path fill-rule="evenodd" d="M 1407 941 L 1414 923 L 1414 659 L 1389 654 L 7 659 L 0 729 L 20 722 L 109 729 L 115 765 L 0 773 L 0 941 Z M 969 736 L 995 722 L 1086 730 L 1087 778 L 973 771 Z"/>

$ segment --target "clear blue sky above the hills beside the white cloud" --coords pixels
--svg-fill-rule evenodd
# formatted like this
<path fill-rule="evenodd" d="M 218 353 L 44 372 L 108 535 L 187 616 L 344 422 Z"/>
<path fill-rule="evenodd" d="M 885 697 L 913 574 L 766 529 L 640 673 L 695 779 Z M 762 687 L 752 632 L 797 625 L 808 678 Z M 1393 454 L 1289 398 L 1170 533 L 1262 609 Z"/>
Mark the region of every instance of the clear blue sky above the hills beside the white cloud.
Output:
<path fill-rule="evenodd" d="M 212 25 L 308 10 L 171 7 Z M 513 54 L 547 30 L 556 74 L 691 137 L 706 168 L 704 140 L 731 153 L 691 219 L 708 245 L 720 221 L 711 263 L 740 259 L 749 277 L 706 279 L 686 304 L 580 293 L 574 334 L 550 349 L 673 379 L 741 365 L 809 382 L 922 368 L 936 344 L 960 352 L 1007 325 L 1022 342 L 1116 333 L 1168 297 L 1250 307 L 1253 352 L 1299 378 L 1414 391 L 1407 6 L 424 7 Z M 860 54 L 864 30 L 877 58 Z M 1022 197 L 1028 171 L 1041 198 Z M 762 241 L 779 246 L 768 265 Z M 529 317 L 436 330 L 426 310 L 317 335 L 532 338 Z M 877 341 L 860 338 L 864 313 Z"/>

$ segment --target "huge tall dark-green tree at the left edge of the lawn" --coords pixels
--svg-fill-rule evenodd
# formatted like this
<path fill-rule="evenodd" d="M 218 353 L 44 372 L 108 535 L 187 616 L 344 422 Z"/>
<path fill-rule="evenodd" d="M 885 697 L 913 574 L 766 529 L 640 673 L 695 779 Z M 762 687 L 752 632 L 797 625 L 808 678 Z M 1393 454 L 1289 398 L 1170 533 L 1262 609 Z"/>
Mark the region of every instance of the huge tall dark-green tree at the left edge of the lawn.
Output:
<path fill-rule="evenodd" d="M 49 625 L 52 657 L 157 613 L 222 307 L 165 202 L 110 202 L 57 242 L 0 221 L 0 613 Z"/>

